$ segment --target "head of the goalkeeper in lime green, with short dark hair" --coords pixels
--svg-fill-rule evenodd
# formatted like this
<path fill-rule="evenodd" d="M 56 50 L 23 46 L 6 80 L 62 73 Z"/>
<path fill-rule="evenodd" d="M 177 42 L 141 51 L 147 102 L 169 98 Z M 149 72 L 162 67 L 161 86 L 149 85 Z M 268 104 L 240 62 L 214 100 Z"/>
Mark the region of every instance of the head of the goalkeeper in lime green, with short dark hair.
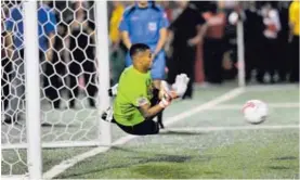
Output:
<path fill-rule="evenodd" d="M 147 44 L 135 43 L 129 50 L 133 67 L 140 72 L 148 72 L 152 66 L 152 52 Z"/>

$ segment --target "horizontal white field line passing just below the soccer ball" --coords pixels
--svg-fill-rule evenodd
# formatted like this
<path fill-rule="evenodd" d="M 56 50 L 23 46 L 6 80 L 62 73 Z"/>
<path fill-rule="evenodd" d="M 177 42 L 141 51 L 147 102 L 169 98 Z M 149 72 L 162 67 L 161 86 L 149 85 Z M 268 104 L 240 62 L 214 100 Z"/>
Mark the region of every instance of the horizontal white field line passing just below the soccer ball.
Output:
<path fill-rule="evenodd" d="M 166 128 L 168 131 L 177 132 L 210 132 L 210 131 L 237 131 L 237 130 L 281 130 L 281 129 L 300 129 L 300 125 L 251 125 L 251 126 L 233 126 L 233 127 L 182 127 L 182 128 Z"/>

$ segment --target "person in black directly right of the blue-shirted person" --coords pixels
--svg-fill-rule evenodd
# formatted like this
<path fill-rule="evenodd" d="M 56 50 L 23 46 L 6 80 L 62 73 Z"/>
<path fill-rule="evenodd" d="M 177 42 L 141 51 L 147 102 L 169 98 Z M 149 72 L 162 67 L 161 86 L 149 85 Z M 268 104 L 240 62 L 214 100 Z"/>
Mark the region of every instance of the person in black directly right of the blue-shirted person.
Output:
<path fill-rule="evenodd" d="M 204 27 L 201 25 L 205 24 L 205 20 L 195 4 L 186 1 L 179 3 L 183 11 L 169 27 L 173 40 L 171 42 L 172 56 L 167 63 L 169 68 L 167 80 L 173 83 L 178 74 L 186 74 L 191 79 L 183 99 L 192 99 L 196 44 L 203 39 Z"/>

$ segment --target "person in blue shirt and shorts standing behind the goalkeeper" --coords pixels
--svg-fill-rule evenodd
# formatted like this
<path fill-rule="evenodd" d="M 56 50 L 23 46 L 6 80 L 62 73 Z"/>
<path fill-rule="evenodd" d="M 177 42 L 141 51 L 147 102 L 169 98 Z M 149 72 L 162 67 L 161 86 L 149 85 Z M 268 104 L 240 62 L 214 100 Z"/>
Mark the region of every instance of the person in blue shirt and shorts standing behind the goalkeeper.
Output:
<path fill-rule="evenodd" d="M 154 97 L 158 97 L 160 81 L 165 79 L 165 51 L 162 50 L 167 39 L 169 22 L 162 8 L 154 1 L 136 1 L 129 7 L 122 16 L 119 26 L 125 46 L 129 50 L 134 43 L 145 43 L 153 53 L 153 65 L 151 69 L 152 79 L 157 89 Z M 132 65 L 130 55 L 126 56 L 126 66 Z M 161 123 L 162 114 L 158 114 L 158 121 Z"/>

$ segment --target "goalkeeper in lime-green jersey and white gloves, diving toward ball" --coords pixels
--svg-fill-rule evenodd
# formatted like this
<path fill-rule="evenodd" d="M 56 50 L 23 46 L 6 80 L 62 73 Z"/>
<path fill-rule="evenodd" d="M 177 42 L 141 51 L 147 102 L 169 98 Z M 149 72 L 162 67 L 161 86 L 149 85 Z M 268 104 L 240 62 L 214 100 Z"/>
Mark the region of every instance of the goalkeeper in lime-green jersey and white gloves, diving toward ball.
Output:
<path fill-rule="evenodd" d="M 114 108 L 103 113 L 102 118 L 130 134 L 156 134 L 159 126 L 153 118 L 170 105 L 172 99 L 184 94 L 190 79 L 182 74 L 177 77 L 172 90 L 166 81 L 156 89 L 149 72 L 153 60 L 149 47 L 136 43 L 129 53 L 133 65 L 123 70 L 118 86 L 113 88 Z"/>

